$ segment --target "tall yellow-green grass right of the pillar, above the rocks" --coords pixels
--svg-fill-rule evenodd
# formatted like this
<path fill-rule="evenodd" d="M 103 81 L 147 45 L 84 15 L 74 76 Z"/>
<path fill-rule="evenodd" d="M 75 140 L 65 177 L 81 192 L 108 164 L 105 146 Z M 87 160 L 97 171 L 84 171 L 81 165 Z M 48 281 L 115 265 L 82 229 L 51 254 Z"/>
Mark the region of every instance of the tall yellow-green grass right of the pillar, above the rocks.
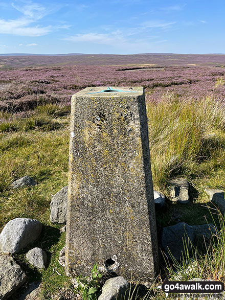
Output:
<path fill-rule="evenodd" d="M 178 101 L 166 94 L 147 104 L 152 177 L 167 194 L 169 178 L 183 176 L 202 193 L 204 187 L 224 188 L 225 107 L 207 98 Z"/>

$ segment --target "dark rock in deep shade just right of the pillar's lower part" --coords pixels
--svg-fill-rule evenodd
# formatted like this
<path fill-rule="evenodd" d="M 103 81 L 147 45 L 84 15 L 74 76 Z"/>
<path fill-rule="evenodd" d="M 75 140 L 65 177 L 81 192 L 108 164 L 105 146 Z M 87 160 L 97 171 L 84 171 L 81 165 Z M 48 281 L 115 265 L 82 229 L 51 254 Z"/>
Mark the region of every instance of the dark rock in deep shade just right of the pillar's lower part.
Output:
<path fill-rule="evenodd" d="M 182 252 L 185 256 L 184 244 L 188 243 L 188 238 L 193 243 L 194 230 L 193 227 L 187 223 L 177 223 L 172 226 L 164 227 L 161 243 L 167 257 L 171 259 L 172 255 L 176 260 L 180 260 L 182 257 Z M 189 251 L 190 250 L 191 247 L 189 242 Z"/>

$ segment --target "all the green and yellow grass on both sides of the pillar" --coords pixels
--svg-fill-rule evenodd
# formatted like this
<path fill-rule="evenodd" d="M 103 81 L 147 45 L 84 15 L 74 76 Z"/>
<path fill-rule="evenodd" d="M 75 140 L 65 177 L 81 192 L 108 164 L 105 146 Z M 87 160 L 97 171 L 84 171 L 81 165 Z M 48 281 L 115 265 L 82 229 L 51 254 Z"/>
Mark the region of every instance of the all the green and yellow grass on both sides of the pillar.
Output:
<path fill-rule="evenodd" d="M 211 223 L 214 215 L 206 207 L 208 196 L 204 189 L 224 190 L 224 106 L 210 98 L 179 102 L 173 94 L 167 93 L 162 102 L 147 103 L 147 116 L 154 189 L 169 196 L 167 182 L 176 176 L 185 177 L 192 184 L 193 203 L 182 205 L 167 200 L 156 213 L 158 229 L 178 220 L 189 225 Z M 13 112 L 0 112 L 0 119 L 3 120 L 0 123 L 0 228 L 16 217 L 40 220 L 44 229 L 37 246 L 48 251 L 49 267 L 43 271 L 31 268 L 25 260 L 25 252 L 15 258 L 28 272 L 29 282 L 35 278 L 42 280 L 42 299 L 50 300 L 52 295 L 63 291 L 73 294 L 74 289 L 58 264 L 65 235 L 59 234 L 60 225 L 53 225 L 49 220 L 51 196 L 68 182 L 68 108 L 45 104 L 37 106 L 26 118 L 16 118 Z M 25 175 L 33 177 L 37 186 L 12 190 L 11 182 Z M 216 224 L 218 220 L 215 217 Z M 221 236 L 224 237 L 224 233 Z M 209 274 L 213 266 L 215 274 L 221 267 L 215 251 L 221 252 L 222 248 L 214 246 L 214 252 L 208 252 L 205 257 L 205 270 L 212 266 L 211 271 L 207 271 Z M 197 259 L 199 257 L 198 253 Z M 53 271 L 55 267 L 61 275 Z M 172 276 L 171 269 L 168 268 L 168 272 Z M 145 298 L 164 298 L 159 290 L 154 289 L 153 294 Z"/>

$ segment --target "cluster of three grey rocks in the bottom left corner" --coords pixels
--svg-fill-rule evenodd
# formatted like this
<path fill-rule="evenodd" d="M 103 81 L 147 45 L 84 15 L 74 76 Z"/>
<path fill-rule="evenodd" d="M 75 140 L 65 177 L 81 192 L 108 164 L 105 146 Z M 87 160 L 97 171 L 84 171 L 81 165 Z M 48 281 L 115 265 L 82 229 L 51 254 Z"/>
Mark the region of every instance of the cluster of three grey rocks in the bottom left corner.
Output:
<path fill-rule="evenodd" d="M 10 295 L 23 285 L 27 276 L 9 254 L 19 253 L 22 249 L 36 241 L 41 233 L 42 224 L 38 220 L 16 218 L 9 221 L 0 234 L 0 299 L 8 299 Z M 28 261 L 37 268 L 47 264 L 47 255 L 40 248 L 27 253 Z"/>

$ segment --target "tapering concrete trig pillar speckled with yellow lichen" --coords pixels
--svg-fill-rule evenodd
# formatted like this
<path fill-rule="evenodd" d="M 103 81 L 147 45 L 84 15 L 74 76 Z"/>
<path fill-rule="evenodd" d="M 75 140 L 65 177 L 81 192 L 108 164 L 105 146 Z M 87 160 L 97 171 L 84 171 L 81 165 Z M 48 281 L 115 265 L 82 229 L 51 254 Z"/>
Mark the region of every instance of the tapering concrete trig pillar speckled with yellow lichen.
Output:
<path fill-rule="evenodd" d="M 150 283 L 158 244 L 143 87 L 88 87 L 72 97 L 66 272 L 95 262 Z"/>

